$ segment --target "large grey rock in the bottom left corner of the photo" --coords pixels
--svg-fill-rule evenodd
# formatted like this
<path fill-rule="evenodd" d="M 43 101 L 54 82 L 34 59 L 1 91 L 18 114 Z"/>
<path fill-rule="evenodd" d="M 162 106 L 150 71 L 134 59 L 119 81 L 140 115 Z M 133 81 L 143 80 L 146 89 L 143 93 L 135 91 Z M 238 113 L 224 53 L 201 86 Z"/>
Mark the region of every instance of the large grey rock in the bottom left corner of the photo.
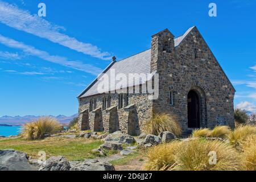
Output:
<path fill-rule="evenodd" d="M 0 171 L 37 171 L 31 165 L 28 155 L 15 150 L 0 150 Z"/>

